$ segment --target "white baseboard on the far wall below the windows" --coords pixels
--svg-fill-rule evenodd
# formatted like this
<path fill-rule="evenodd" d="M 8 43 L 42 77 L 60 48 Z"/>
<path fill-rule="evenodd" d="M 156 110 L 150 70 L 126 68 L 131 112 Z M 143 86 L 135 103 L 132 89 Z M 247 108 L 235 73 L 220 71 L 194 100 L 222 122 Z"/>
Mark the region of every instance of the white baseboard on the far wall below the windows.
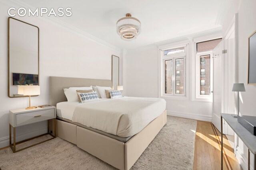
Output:
<path fill-rule="evenodd" d="M 170 110 L 167 110 L 167 115 L 176 116 L 176 117 L 183 117 L 183 118 L 187 118 L 187 119 L 212 121 L 212 116 L 208 116 L 208 115 L 199 115 L 199 114 L 185 113 L 185 112 L 178 112 L 178 111 L 170 111 Z"/>

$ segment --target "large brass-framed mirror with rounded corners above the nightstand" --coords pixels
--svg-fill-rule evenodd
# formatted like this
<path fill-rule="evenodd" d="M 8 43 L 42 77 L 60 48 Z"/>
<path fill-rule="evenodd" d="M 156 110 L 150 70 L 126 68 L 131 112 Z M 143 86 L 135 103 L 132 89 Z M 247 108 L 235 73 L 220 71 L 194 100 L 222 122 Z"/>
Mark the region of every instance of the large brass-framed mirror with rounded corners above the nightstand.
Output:
<path fill-rule="evenodd" d="M 18 95 L 18 85 L 39 85 L 39 28 L 8 18 L 8 96 Z"/>

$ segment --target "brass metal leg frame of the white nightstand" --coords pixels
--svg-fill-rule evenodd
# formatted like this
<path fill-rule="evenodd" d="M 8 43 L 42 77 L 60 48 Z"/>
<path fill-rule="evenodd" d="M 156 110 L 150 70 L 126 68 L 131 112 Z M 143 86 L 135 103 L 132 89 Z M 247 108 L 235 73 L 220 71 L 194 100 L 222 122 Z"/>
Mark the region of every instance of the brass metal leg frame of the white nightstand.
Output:
<path fill-rule="evenodd" d="M 21 151 L 21 150 L 24 150 L 24 149 L 33 147 L 33 146 L 38 145 L 38 144 L 40 144 L 40 143 L 44 143 L 44 142 L 46 142 L 46 141 L 50 141 L 51 139 L 56 138 L 56 118 L 55 118 L 55 119 L 51 119 L 51 120 L 53 120 L 53 122 L 54 122 L 54 135 L 49 132 L 49 121 L 50 121 L 50 120 L 47 120 L 47 122 L 48 122 L 47 133 L 42 134 L 42 135 L 39 135 L 39 136 L 36 136 L 36 137 L 32 137 L 32 138 L 30 138 L 30 139 L 26 139 L 26 140 L 24 140 L 24 141 L 20 141 L 20 142 L 18 142 L 18 143 L 16 143 L 15 127 L 13 127 L 13 144 L 12 144 L 12 125 L 9 124 L 10 148 L 12 149 L 12 151 L 13 151 L 14 153 L 15 153 L 15 152 L 19 152 L 19 151 Z M 52 127 L 52 126 L 51 126 L 51 127 Z M 53 129 L 52 129 L 52 130 L 53 130 Z M 39 142 L 39 143 L 30 145 L 30 146 L 28 146 L 28 147 L 25 147 L 25 148 L 22 148 L 22 149 L 19 149 L 19 150 L 16 150 L 16 145 L 18 145 L 18 144 L 20 144 L 20 143 L 23 143 L 23 142 L 26 142 L 26 141 L 30 141 L 30 140 L 35 139 L 35 138 L 38 138 L 38 137 L 42 137 L 42 136 L 47 135 L 47 134 L 48 134 L 48 135 L 51 135 L 52 138 L 46 139 L 45 141 L 42 141 L 42 142 Z"/>

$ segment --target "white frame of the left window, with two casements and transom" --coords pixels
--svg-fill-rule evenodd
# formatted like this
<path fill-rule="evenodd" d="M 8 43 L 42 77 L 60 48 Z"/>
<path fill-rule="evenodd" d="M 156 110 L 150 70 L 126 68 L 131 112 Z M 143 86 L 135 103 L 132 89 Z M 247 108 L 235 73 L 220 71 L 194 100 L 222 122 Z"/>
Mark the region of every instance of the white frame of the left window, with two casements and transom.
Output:
<path fill-rule="evenodd" d="M 178 53 L 178 54 L 171 54 L 171 55 L 164 55 L 164 51 L 170 50 L 170 49 L 176 49 L 184 47 L 184 53 Z M 184 46 L 174 46 L 174 47 L 168 47 L 160 49 L 160 55 L 161 55 L 161 97 L 186 97 L 186 53 L 187 48 L 186 45 Z M 183 59 L 183 94 L 176 94 L 176 59 Z M 165 61 L 172 60 L 172 93 L 166 94 L 165 93 Z"/>

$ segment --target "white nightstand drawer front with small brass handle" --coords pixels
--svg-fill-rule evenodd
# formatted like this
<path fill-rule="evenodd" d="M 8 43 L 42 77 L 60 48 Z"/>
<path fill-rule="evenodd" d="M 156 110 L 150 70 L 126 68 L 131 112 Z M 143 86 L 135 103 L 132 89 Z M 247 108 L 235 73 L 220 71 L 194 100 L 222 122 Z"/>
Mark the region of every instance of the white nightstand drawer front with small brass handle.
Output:
<path fill-rule="evenodd" d="M 55 110 L 47 109 L 16 114 L 16 126 L 55 118 Z"/>

